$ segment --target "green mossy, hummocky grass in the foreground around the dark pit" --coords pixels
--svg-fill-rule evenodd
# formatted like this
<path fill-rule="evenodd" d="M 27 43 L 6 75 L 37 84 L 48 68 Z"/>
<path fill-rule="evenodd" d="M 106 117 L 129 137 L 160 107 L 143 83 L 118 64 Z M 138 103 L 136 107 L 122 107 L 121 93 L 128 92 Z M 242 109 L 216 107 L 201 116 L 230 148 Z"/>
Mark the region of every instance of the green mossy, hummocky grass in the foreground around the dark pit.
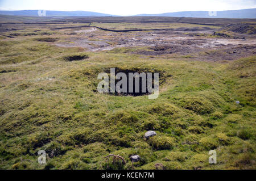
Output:
<path fill-rule="evenodd" d="M 105 169 L 109 154 L 125 158 L 123 169 L 255 169 L 255 56 L 218 64 L 38 41 L 56 38 L 0 41 L 1 169 Z M 86 56 L 63 61 L 74 54 Z M 98 93 L 109 68 L 163 72 L 159 97 Z M 148 130 L 158 135 L 144 140 Z"/>

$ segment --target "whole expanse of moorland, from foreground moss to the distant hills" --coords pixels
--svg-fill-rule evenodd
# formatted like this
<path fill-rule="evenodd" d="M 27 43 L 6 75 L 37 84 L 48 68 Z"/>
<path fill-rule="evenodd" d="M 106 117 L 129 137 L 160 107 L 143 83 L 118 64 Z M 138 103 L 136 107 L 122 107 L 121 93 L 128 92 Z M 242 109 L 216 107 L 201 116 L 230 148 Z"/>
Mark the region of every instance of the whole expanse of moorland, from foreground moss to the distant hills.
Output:
<path fill-rule="evenodd" d="M 1 169 L 256 168 L 255 19 L 0 22 Z M 158 98 L 97 92 L 110 68 L 159 72 Z"/>

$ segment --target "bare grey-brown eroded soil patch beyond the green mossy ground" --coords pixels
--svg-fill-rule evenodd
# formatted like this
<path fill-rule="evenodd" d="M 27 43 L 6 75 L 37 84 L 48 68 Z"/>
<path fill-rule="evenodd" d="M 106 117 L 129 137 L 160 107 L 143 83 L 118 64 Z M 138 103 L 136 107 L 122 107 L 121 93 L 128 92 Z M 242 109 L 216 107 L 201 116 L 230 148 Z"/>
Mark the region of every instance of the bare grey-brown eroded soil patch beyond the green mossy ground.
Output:
<path fill-rule="evenodd" d="M 175 31 L 108 32 L 92 27 L 75 30 L 75 36 L 56 45 L 82 47 L 92 52 L 144 47 L 126 52 L 144 56 L 175 54 L 202 61 L 236 60 L 255 54 L 254 35 L 213 36 L 214 31 L 211 28 L 177 28 Z"/>

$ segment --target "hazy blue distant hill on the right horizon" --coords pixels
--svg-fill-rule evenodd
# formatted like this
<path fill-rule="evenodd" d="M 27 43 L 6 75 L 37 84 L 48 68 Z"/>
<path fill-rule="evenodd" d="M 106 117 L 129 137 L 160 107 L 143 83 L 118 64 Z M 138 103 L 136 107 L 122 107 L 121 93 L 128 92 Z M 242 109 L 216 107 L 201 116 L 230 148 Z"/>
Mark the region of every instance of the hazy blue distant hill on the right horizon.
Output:
<path fill-rule="evenodd" d="M 230 11 L 182 11 L 167 12 L 163 14 L 139 14 L 135 16 L 172 16 L 191 18 L 256 18 L 256 9 L 230 10 Z"/>

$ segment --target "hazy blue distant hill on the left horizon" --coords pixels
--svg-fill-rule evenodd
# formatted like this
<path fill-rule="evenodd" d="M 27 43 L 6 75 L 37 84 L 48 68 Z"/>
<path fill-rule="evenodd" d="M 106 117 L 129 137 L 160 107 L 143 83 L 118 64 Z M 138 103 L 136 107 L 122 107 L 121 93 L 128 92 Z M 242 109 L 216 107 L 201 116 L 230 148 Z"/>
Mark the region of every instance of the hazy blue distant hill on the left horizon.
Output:
<path fill-rule="evenodd" d="M 39 16 L 38 10 L 0 11 L 2 15 Z M 90 11 L 46 11 L 46 16 L 115 16 Z"/>

